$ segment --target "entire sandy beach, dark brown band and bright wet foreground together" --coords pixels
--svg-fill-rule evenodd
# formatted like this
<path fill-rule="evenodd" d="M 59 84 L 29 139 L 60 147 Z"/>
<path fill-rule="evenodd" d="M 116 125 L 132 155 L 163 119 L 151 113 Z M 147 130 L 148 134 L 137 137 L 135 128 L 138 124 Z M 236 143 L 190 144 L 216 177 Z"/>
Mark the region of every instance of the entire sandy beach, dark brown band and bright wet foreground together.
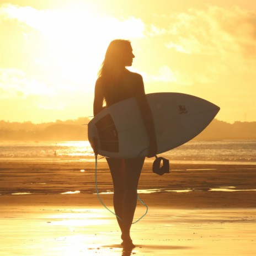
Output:
<path fill-rule="evenodd" d="M 256 166 L 147 161 L 139 184 L 148 214 L 120 246 L 115 216 L 95 194 L 93 162 L 0 163 L 0 255 L 255 255 Z M 113 210 L 111 177 L 99 161 L 99 192 Z M 135 219 L 145 212 L 138 202 Z"/>

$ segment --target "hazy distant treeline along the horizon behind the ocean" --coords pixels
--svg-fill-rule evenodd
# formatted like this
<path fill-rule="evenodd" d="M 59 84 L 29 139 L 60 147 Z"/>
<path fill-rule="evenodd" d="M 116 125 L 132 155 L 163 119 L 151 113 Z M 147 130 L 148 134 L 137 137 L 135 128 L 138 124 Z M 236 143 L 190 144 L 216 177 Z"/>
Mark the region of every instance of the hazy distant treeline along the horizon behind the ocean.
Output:
<path fill-rule="evenodd" d="M 0 121 L 0 141 L 87 140 L 88 118 L 33 124 Z M 196 140 L 256 140 L 256 122 L 227 122 L 214 119 Z"/>

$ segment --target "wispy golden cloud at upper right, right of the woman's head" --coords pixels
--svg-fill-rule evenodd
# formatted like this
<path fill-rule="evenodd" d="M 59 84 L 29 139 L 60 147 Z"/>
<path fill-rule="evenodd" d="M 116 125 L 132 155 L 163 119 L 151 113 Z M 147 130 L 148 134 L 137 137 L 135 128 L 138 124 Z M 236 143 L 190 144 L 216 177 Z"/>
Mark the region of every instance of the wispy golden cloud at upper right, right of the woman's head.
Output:
<path fill-rule="evenodd" d="M 169 35 L 166 47 L 185 54 L 256 55 L 256 13 L 232 7 L 189 9 L 166 19 L 166 27 L 151 25 L 150 35 Z"/>

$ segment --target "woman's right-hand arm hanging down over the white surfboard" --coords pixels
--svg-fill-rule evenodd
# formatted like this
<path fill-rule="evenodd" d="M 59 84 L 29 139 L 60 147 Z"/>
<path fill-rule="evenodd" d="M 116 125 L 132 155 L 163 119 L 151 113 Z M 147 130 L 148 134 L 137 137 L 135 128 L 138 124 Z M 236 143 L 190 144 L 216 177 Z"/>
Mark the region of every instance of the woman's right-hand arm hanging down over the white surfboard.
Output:
<path fill-rule="evenodd" d="M 156 153 L 157 153 L 156 131 L 154 129 L 154 121 L 153 121 L 150 105 L 148 105 L 148 101 L 146 98 L 143 79 L 142 79 L 142 76 L 140 75 L 138 78 L 136 97 L 138 99 L 138 105 L 140 106 L 142 119 L 145 123 L 148 137 L 150 138 L 150 145 L 148 148 L 147 157 L 154 157 L 156 156 Z"/>

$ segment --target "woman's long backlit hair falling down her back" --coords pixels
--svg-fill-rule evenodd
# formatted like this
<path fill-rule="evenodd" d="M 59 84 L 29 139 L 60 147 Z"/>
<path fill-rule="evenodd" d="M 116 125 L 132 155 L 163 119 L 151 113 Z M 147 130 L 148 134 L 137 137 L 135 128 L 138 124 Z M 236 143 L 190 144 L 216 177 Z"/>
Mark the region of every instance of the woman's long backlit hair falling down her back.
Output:
<path fill-rule="evenodd" d="M 116 39 L 110 42 L 106 50 L 105 58 L 98 72 L 104 85 L 105 100 L 116 97 L 117 88 L 124 71 L 124 55 L 131 49 L 131 42 L 124 39 Z"/>

